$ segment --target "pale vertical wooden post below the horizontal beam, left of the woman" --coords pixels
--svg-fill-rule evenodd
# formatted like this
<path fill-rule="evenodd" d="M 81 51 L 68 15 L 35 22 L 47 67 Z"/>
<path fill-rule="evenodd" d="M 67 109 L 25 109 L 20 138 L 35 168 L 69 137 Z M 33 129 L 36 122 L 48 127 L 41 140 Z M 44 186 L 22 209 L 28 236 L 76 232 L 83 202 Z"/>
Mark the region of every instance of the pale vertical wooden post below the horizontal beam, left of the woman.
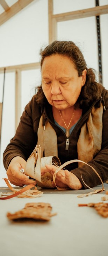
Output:
<path fill-rule="evenodd" d="M 15 72 L 15 130 L 20 122 L 21 117 L 21 72 Z"/>

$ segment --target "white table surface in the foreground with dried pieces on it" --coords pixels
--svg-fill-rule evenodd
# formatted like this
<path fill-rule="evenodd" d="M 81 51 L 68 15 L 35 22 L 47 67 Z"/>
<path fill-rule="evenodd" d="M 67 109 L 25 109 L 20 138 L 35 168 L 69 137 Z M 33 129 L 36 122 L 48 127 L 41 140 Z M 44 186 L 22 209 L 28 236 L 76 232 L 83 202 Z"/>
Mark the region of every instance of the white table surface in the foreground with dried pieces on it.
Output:
<path fill-rule="evenodd" d="M 108 190 L 108 184 L 105 186 Z M 108 255 L 108 218 L 101 217 L 94 208 L 78 207 L 79 203 L 101 202 L 101 193 L 78 198 L 89 189 L 42 191 L 43 195 L 34 199 L 0 200 L 0 256 Z M 57 215 L 49 222 L 7 219 L 7 212 L 14 213 L 28 202 L 48 202 Z"/>

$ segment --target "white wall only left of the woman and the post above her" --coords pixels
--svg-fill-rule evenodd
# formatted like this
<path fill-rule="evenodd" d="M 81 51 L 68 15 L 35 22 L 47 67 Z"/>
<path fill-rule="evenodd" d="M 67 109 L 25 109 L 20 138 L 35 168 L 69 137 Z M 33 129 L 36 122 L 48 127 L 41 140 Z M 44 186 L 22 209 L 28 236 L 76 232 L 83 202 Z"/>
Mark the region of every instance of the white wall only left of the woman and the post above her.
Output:
<path fill-rule="evenodd" d="M 39 50 L 48 44 L 48 1 L 35 0 L 0 26 L 0 67 L 38 62 Z M 40 84 L 40 71 L 23 71 L 21 108 L 34 95 L 36 84 Z M 3 74 L 0 74 L 0 102 L 2 102 Z M 5 98 L 3 104 L 2 138 L 0 150 L 1 178 L 6 177 L 2 154 L 15 133 L 15 74 L 6 73 Z"/>

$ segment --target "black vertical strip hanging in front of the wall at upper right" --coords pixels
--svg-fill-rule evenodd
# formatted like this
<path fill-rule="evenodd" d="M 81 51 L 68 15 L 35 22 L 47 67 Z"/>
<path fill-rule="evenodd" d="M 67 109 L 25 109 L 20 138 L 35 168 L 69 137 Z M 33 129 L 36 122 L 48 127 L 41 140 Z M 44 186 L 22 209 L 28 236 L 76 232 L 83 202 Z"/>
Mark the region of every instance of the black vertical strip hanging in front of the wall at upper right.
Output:
<path fill-rule="evenodd" d="M 99 6 L 99 0 L 95 0 L 96 6 Z M 99 60 L 99 74 L 100 83 L 102 83 L 102 61 L 101 61 L 101 36 L 100 36 L 100 17 L 96 16 L 97 35 L 98 35 L 98 60 Z"/>

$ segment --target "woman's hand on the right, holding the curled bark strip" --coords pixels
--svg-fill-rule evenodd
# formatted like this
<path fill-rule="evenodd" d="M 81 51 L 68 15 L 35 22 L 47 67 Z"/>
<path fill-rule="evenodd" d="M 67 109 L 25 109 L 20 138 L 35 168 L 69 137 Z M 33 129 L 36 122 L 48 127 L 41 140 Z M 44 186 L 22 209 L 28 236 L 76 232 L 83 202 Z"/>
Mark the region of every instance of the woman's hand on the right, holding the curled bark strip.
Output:
<path fill-rule="evenodd" d="M 42 167 L 41 169 L 41 175 L 44 175 L 46 172 L 50 172 L 52 175 L 55 173 L 55 171 L 58 169 L 58 167 L 54 165 L 45 165 L 45 167 Z M 53 187 L 69 187 L 74 190 L 78 190 L 82 188 L 82 184 L 80 180 L 75 176 L 72 172 L 69 172 L 68 170 L 60 170 L 56 174 L 56 185 L 52 181 Z"/>

